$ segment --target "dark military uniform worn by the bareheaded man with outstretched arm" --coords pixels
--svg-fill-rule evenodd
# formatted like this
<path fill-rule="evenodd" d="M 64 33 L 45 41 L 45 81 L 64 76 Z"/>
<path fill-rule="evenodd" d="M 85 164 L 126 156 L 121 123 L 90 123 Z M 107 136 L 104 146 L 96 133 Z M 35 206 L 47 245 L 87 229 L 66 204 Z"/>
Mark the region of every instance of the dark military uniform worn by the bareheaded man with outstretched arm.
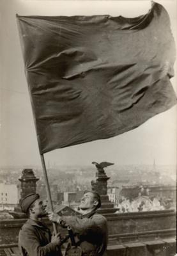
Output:
<path fill-rule="evenodd" d="M 60 225 L 69 225 L 73 233 L 77 234 L 77 245 L 82 249 L 82 256 L 102 256 L 107 248 L 108 230 L 107 220 L 95 211 L 82 215 L 63 216 Z"/>

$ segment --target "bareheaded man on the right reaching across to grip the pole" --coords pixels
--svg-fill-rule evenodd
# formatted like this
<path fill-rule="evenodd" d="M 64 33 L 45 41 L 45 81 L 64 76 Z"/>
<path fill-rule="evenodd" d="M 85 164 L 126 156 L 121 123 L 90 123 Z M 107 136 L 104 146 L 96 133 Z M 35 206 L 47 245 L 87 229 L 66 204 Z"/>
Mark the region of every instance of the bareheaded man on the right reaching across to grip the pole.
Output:
<path fill-rule="evenodd" d="M 84 193 L 81 198 L 81 218 L 76 216 L 58 216 L 49 213 L 49 219 L 62 227 L 69 226 L 77 235 L 77 246 L 82 249 L 83 256 L 102 256 L 107 248 L 107 220 L 96 209 L 101 206 L 100 195 L 93 191 Z"/>

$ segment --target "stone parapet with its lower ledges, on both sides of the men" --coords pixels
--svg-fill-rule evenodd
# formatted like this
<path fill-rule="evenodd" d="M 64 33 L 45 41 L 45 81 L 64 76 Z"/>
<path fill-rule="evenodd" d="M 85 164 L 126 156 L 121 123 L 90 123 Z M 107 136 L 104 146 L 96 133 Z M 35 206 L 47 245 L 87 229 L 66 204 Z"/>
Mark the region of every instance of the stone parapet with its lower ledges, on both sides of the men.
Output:
<path fill-rule="evenodd" d="M 109 227 L 108 255 L 174 256 L 176 212 L 173 210 L 105 213 L 104 216 Z M 0 221 L 0 255 L 3 255 L 3 248 L 17 246 L 19 230 L 25 221 L 26 219 Z M 52 228 L 50 221 L 45 221 Z M 61 227 L 59 232 L 66 235 L 66 230 Z"/>

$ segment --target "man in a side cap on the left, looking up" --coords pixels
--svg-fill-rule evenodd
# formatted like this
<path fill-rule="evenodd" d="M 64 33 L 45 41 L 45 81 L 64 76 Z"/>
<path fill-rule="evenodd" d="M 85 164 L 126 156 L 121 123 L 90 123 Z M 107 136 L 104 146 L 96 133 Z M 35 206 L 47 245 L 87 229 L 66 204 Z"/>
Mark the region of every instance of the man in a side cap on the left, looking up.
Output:
<path fill-rule="evenodd" d="M 27 195 L 20 202 L 22 212 L 28 216 L 19 232 L 19 249 L 23 256 L 61 255 L 59 234 L 51 236 L 49 228 L 40 221 L 47 214 L 46 206 L 35 193 Z"/>

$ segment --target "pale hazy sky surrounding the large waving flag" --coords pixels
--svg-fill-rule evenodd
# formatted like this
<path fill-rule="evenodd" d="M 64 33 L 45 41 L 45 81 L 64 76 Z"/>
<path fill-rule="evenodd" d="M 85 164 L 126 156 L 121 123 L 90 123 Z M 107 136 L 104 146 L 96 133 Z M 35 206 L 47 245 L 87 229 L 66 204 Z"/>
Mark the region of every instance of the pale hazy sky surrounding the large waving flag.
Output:
<path fill-rule="evenodd" d="M 162 4 L 169 13 L 176 41 L 176 0 L 157 3 Z M 151 2 L 146 0 L 0 0 L 0 165 L 40 164 L 15 14 L 137 17 L 147 13 L 150 8 Z M 175 79 L 171 79 L 173 86 Z M 45 159 L 50 164 L 88 165 L 92 161 L 153 164 L 154 159 L 157 164 L 176 164 L 176 106 L 137 129 L 111 139 L 54 150 L 45 154 Z"/>

